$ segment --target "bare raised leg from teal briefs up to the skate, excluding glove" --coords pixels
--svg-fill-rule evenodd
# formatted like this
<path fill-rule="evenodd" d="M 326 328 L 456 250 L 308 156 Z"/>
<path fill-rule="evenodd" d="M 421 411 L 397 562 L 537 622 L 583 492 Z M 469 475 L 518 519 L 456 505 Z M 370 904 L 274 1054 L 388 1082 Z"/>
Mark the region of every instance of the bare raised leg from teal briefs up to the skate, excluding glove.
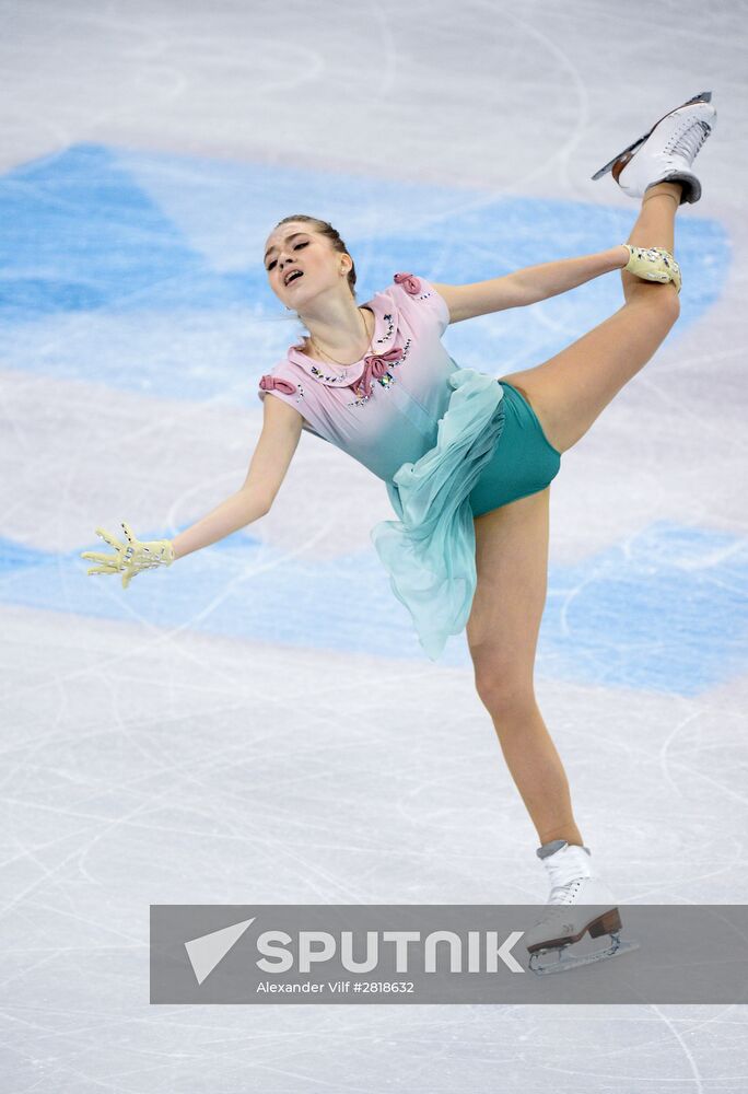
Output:
<path fill-rule="evenodd" d="M 677 205 L 661 183 L 645 195 L 631 238 L 634 246 L 673 240 Z M 652 232 L 644 237 L 644 230 Z M 670 247 L 666 249 L 671 251 Z M 627 302 L 578 341 L 534 369 L 502 376 L 526 395 L 549 442 L 565 452 L 659 348 L 680 313 L 673 282 L 640 281 L 623 272 Z M 626 280 L 631 278 L 631 281 Z"/>

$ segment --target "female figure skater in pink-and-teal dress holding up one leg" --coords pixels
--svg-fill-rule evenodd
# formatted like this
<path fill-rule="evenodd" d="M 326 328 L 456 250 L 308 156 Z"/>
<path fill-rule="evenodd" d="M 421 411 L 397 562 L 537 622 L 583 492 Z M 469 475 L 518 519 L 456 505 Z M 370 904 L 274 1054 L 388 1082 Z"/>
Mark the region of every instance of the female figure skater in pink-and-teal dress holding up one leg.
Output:
<path fill-rule="evenodd" d="M 266 243 L 268 281 L 308 334 L 260 381 L 264 423 L 246 481 L 173 540 L 141 543 L 124 523 L 124 543 L 96 529 L 114 555 L 82 556 L 98 563 L 89 573 L 122 573 L 127 587 L 141 570 L 168 566 L 258 520 L 278 494 L 302 429 L 383 478 L 398 520 L 378 524 L 372 538 L 393 591 L 432 659 L 448 635 L 466 628 L 478 695 L 538 834 L 551 891 L 550 907 L 524 940 L 536 971 L 627 945 L 534 690 L 550 482 L 562 453 L 678 317 L 675 216 L 701 197 L 692 164 L 715 118 L 711 93 L 697 95 L 594 176 L 611 171 L 642 200 L 628 243 L 489 281 L 433 284 L 397 274 L 359 305 L 353 259 L 337 231 L 305 214 L 280 221 Z M 441 342 L 449 323 L 533 304 L 616 269 L 623 306 L 542 364 L 496 380 L 459 369 Z M 608 948 L 564 957 L 587 931 L 609 934 Z M 544 965 L 548 954 L 558 961 Z"/>

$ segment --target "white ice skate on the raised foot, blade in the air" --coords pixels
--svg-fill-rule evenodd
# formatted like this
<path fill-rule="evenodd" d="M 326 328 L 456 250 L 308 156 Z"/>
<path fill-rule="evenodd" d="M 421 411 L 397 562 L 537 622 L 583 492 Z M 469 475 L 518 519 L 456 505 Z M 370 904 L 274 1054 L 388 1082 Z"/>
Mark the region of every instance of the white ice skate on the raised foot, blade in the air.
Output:
<path fill-rule="evenodd" d="M 600 167 L 593 178 L 601 178 L 610 171 L 623 193 L 632 198 L 643 197 L 644 191 L 657 183 L 680 183 L 680 203 L 698 201 L 701 183 L 691 166 L 716 125 L 711 98 L 711 91 L 702 91 L 670 110 L 647 133 Z"/>

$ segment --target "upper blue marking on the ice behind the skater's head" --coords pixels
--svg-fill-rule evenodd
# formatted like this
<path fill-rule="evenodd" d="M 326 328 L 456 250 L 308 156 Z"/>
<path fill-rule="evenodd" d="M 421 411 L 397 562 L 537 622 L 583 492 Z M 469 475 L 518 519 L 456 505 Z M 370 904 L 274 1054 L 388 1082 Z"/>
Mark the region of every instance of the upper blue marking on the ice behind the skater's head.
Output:
<path fill-rule="evenodd" d="M 464 283 L 609 247 L 627 237 L 635 207 L 73 146 L 0 178 L 3 365 L 258 411 L 257 381 L 301 333 L 267 286 L 262 244 L 278 220 L 304 211 L 340 228 L 365 301 L 398 271 Z M 678 259 L 670 338 L 722 291 L 722 225 L 679 221 Z M 504 375 L 620 303 L 618 275 L 607 276 L 457 324 L 444 342 L 463 368 Z"/>

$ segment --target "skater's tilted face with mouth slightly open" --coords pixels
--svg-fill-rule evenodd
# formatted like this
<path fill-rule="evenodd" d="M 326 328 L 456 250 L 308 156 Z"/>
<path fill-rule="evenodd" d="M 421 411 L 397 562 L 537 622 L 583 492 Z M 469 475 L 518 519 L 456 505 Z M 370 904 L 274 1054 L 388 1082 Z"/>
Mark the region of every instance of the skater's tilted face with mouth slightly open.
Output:
<path fill-rule="evenodd" d="M 266 241 L 265 269 L 270 288 L 295 312 L 325 289 L 347 287 L 341 268 L 348 274 L 350 257 L 334 251 L 330 241 L 311 231 L 305 221 L 281 224 Z M 296 276 L 287 284 L 291 269 L 300 269 L 302 277 Z"/>

